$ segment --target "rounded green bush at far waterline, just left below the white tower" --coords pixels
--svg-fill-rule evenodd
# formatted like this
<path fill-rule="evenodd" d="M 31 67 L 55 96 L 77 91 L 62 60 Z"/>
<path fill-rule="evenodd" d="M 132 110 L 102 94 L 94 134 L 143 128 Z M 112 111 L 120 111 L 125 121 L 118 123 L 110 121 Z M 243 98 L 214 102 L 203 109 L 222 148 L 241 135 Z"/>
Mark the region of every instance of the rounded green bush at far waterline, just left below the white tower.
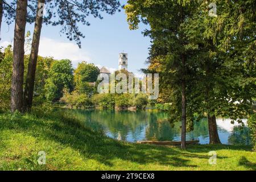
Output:
<path fill-rule="evenodd" d="M 96 107 L 101 109 L 114 109 L 115 96 L 114 94 L 94 94 L 92 102 Z"/>

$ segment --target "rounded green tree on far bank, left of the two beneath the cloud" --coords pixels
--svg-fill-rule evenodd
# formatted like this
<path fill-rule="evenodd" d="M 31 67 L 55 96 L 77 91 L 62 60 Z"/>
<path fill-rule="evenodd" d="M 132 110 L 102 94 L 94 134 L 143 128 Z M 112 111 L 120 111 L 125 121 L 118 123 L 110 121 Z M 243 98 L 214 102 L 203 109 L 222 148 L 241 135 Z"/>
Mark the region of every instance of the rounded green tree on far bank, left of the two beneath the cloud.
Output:
<path fill-rule="evenodd" d="M 63 96 L 63 89 L 73 90 L 73 68 L 70 60 L 55 60 L 49 70 L 45 92 L 47 101 L 57 101 Z"/>

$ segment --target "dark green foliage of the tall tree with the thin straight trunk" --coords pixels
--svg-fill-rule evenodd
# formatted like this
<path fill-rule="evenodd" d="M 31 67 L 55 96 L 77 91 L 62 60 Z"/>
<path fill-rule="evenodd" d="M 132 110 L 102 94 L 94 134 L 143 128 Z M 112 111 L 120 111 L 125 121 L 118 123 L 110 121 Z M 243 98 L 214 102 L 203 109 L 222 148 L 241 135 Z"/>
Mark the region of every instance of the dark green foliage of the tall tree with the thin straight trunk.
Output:
<path fill-rule="evenodd" d="M 137 29 L 140 22 L 150 25 L 150 30 L 144 31 L 144 35 L 152 40 L 148 62 L 154 67 L 149 72 L 160 73 L 160 90 L 168 90 L 165 101 L 172 103 L 172 122 L 181 120 L 181 85 L 186 88 L 184 96 L 188 95 L 187 88 L 192 83 L 186 80 L 193 79 L 195 74 L 195 60 L 190 58 L 197 55 L 198 45 L 186 37 L 186 22 L 192 18 L 198 6 L 198 2 L 168 0 L 131 0 L 125 6 L 131 30 Z M 192 114 L 192 110 L 187 109 L 185 115 L 188 122 L 192 122 Z"/>

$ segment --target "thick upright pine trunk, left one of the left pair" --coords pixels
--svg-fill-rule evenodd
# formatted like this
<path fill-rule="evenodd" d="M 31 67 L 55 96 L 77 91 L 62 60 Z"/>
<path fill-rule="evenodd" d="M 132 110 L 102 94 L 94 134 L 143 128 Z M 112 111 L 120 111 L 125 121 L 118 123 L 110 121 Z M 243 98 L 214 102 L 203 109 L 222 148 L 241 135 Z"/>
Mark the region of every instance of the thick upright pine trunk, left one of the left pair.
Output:
<path fill-rule="evenodd" d="M 18 0 L 16 7 L 13 77 L 11 80 L 11 111 L 22 111 L 23 76 L 24 76 L 24 41 L 27 16 L 27 0 Z"/>

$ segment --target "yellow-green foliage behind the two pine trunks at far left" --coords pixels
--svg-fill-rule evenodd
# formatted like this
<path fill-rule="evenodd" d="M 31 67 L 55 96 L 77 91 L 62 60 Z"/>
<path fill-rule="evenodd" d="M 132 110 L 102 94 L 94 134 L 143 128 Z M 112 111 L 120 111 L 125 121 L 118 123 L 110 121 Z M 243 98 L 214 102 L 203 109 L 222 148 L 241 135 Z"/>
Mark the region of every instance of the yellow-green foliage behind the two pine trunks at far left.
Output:
<path fill-rule="evenodd" d="M 3 52 L 0 52 L 0 107 L 2 110 L 6 110 L 10 107 L 13 49 L 11 46 L 8 46 Z M 29 56 L 24 56 L 25 79 L 27 75 L 28 59 Z M 56 97 L 54 93 L 57 92 L 57 88 L 52 84 L 53 82 L 51 82 L 51 80 L 47 81 L 52 62 L 53 59 L 51 57 L 38 57 L 35 75 L 34 104 L 43 104 L 43 102 L 46 101 L 46 97 L 51 98 L 52 100 Z M 51 89 L 50 92 L 45 92 L 46 84 L 47 88 Z"/>

